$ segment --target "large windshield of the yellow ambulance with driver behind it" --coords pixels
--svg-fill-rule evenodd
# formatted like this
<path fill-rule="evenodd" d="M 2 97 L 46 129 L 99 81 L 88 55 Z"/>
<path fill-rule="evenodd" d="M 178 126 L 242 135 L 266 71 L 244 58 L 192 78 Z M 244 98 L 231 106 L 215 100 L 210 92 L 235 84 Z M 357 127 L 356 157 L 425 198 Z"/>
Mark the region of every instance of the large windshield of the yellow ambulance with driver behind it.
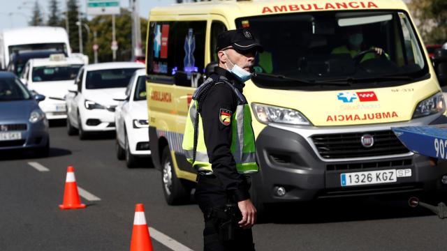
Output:
<path fill-rule="evenodd" d="M 403 12 L 294 13 L 243 17 L 236 24 L 251 29 L 265 49 L 256 56 L 258 74 L 252 78 L 261 87 L 337 89 L 356 82 L 365 87 L 408 83 L 428 74 Z"/>

